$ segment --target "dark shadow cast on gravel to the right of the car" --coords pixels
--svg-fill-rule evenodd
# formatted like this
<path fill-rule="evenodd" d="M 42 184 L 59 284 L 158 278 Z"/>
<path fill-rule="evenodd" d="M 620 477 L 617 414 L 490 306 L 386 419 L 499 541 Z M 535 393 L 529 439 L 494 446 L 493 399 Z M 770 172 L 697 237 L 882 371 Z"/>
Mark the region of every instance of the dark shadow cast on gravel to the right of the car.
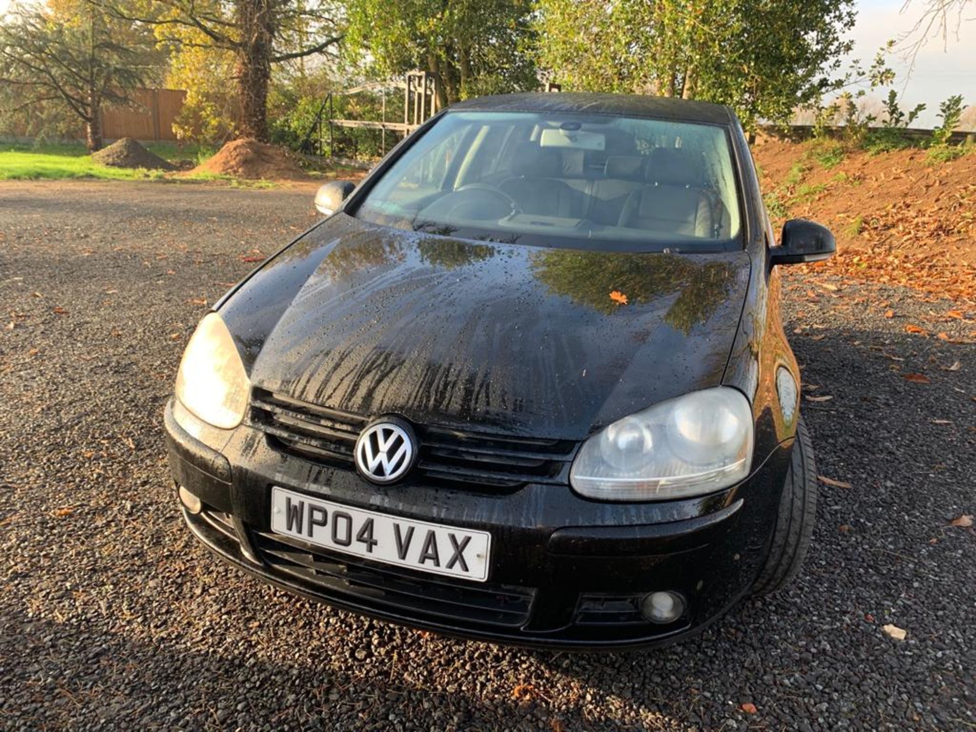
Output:
<path fill-rule="evenodd" d="M 976 652 L 960 578 L 976 541 L 948 524 L 976 508 L 976 346 L 841 328 L 792 342 L 818 473 L 850 486 L 821 483 L 799 578 L 679 645 L 535 658 L 705 728 L 751 718 L 746 703 L 783 728 L 970 726 Z"/>

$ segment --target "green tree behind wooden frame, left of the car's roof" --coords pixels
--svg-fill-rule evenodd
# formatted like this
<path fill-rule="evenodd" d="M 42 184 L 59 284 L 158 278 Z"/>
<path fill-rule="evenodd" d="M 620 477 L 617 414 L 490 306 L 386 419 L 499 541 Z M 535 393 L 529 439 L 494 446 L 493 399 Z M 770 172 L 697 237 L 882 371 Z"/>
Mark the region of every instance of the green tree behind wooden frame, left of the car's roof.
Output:
<path fill-rule="evenodd" d="M 531 0 L 349 0 L 347 47 L 374 73 L 437 74 L 442 106 L 538 86 Z"/>

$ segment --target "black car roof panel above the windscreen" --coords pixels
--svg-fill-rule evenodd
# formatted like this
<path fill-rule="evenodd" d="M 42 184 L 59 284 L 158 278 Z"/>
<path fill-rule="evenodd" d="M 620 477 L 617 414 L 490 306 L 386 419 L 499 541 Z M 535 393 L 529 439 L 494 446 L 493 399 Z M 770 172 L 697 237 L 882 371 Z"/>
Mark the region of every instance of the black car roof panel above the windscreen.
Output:
<path fill-rule="evenodd" d="M 724 104 L 642 94 L 532 92 L 477 97 L 452 104 L 449 111 L 590 112 L 621 117 L 654 117 L 728 125 L 735 115 Z"/>

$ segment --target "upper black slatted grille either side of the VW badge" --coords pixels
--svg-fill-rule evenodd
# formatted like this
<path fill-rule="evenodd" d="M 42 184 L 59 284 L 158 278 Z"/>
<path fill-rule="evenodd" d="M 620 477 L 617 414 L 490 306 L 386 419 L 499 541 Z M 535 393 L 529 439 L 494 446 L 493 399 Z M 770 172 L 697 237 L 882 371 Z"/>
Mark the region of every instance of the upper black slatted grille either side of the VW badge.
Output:
<path fill-rule="evenodd" d="M 306 460 L 350 468 L 356 438 L 369 419 L 255 389 L 251 424 L 276 449 Z M 569 482 L 573 440 L 508 437 L 415 425 L 420 457 L 415 479 L 504 491 L 525 483 Z"/>

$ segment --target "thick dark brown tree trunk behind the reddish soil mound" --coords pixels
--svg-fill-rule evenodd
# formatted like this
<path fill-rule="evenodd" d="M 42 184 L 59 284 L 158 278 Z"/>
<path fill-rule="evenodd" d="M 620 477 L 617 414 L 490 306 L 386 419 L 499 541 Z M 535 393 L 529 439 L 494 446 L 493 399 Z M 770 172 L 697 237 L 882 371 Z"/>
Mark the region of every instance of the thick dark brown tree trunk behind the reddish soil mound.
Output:
<path fill-rule="evenodd" d="M 237 52 L 237 89 L 241 101 L 239 134 L 260 142 L 267 131 L 267 87 L 273 51 L 273 0 L 238 0 L 241 47 Z"/>

